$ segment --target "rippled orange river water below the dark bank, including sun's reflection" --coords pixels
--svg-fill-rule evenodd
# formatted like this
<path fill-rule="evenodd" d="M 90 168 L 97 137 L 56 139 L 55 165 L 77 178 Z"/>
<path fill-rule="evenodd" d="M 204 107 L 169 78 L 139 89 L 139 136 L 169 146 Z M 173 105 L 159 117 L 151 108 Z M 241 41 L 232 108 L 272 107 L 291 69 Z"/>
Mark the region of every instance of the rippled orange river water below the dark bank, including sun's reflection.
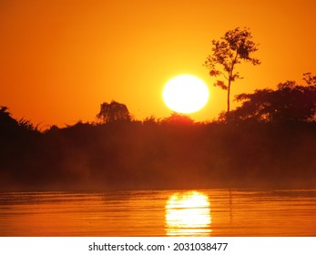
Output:
<path fill-rule="evenodd" d="M 316 189 L 2 192 L 0 236 L 315 236 Z"/>

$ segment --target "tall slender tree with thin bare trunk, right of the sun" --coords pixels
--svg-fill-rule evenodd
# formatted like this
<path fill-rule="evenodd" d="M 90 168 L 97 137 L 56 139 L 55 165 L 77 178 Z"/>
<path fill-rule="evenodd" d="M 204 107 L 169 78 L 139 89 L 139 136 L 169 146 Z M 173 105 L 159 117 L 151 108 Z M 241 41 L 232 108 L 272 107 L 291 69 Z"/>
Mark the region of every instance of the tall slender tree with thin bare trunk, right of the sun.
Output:
<path fill-rule="evenodd" d="M 212 55 L 207 57 L 204 64 L 209 69 L 210 76 L 222 76 L 226 79 L 226 82 L 222 79 L 217 80 L 214 86 L 227 90 L 227 122 L 229 122 L 231 82 L 242 78 L 239 72 L 235 72 L 236 65 L 241 61 L 250 62 L 254 66 L 260 65 L 259 59 L 250 56 L 258 50 L 258 45 L 251 39 L 249 28 L 237 27 L 229 30 L 225 36 L 220 37 L 220 40 L 212 41 Z"/>

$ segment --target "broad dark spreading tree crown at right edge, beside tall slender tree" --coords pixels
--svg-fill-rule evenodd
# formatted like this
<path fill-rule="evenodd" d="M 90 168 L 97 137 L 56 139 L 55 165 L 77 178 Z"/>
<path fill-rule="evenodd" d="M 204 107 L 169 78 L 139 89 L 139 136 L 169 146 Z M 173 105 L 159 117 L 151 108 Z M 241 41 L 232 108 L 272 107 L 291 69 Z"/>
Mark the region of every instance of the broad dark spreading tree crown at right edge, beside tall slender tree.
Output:
<path fill-rule="evenodd" d="M 311 79 L 309 79 L 311 77 Z M 315 76 L 314 76 L 315 77 Z M 316 120 L 316 79 L 304 74 L 307 86 L 294 81 L 280 83 L 276 90 L 257 89 L 252 94 L 240 94 L 241 107 L 231 112 L 235 121 L 301 122 Z"/>

